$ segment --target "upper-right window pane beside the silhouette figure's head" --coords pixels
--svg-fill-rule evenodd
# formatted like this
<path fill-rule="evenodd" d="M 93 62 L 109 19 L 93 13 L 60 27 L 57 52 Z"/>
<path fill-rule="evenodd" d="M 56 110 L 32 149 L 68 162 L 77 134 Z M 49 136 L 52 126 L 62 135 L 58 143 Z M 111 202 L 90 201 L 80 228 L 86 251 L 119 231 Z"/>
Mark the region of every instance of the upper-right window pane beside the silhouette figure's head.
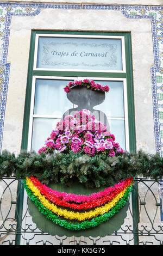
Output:
<path fill-rule="evenodd" d="M 105 93 L 105 100 L 100 105 L 93 107 L 103 111 L 107 117 L 124 118 L 124 97 L 122 81 L 96 81 L 103 86 L 109 86 L 109 93 Z"/>

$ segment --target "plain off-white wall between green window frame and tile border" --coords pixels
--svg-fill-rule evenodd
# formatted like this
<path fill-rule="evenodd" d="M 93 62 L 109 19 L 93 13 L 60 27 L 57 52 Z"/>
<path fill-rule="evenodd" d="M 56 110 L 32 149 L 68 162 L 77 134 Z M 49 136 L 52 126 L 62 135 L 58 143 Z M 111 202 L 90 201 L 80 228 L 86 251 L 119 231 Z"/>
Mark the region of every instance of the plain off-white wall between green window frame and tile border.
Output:
<path fill-rule="evenodd" d="M 20 151 L 32 29 L 131 32 L 137 149 L 155 151 L 150 20 L 130 20 L 121 11 L 42 9 L 34 17 L 12 17 L 8 50 L 10 78 L 2 148 Z M 12 142 L 8 138 L 12 136 Z"/>

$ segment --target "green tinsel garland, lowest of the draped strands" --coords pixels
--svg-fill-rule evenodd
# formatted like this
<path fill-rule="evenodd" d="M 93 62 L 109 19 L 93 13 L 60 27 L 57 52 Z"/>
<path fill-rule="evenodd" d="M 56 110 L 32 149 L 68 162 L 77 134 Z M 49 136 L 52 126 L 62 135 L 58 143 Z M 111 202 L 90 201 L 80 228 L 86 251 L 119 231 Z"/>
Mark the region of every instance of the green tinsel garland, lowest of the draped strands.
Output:
<path fill-rule="evenodd" d="M 101 216 L 92 218 L 91 221 L 82 221 L 82 222 L 77 222 L 76 224 L 70 223 L 66 220 L 61 220 L 59 216 L 55 215 L 52 211 L 46 208 L 40 200 L 34 195 L 32 190 L 27 186 L 26 180 L 24 180 L 24 187 L 27 191 L 27 194 L 29 198 L 34 202 L 36 205 L 37 209 L 46 216 L 48 220 L 51 220 L 53 223 L 60 225 L 61 227 L 64 227 L 66 229 L 70 230 L 85 230 L 93 227 L 97 227 L 97 225 L 108 221 L 112 216 L 114 216 L 127 202 L 130 196 L 130 192 L 133 189 L 133 182 L 131 183 L 130 186 L 128 186 L 126 193 L 124 193 L 123 198 L 118 200 L 116 205 L 112 207 L 112 209 L 109 212 L 106 212 L 105 214 L 102 214 Z"/>

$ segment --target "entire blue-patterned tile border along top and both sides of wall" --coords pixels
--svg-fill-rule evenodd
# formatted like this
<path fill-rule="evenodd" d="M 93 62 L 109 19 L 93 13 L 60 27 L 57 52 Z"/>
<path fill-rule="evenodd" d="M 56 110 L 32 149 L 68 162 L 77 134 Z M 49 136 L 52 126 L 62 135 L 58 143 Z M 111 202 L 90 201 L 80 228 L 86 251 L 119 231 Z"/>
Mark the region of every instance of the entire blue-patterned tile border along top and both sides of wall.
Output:
<path fill-rule="evenodd" d="M 156 153 L 163 153 L 163 6 L 78 5 L 42 3 L 0 3 L 0 149 L 10 64 L 7 63 L 12 16 L 35 16 L 41 9 L 121 10 L 127 19 L 150 19 L 152 25 L 154 67 L 151 68 Z M 136 21 L 135 21 L 136 22 Z"/>

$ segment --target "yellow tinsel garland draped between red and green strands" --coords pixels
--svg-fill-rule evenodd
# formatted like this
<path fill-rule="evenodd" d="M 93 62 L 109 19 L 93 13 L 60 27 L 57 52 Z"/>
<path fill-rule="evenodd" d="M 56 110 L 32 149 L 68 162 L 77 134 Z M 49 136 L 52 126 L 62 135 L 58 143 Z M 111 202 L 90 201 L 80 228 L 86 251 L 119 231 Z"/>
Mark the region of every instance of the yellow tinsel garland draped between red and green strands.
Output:
<path fill-rule="evenodd" d="M 78 221 L 85 221 L 89 220 L 90 218 L 105 214 L 108 212 L 112 207 L 116 205 L 116 203 L 123 198 L 124 194 L 127 191 L 127 188 L 125 188 L 122 192 L 118 193 L 115 198 L 113 198 L 109 203 L 106 203 L 104 206 L 98 207 L 95 210 L 90 210 L 88 212 L 73 212 L 73 211 L 67 211 L 66 209 L 62 210 L 61 208 L 58 208 L 53 203 L 50 203 L 48 199 L 45 198 L 45 196 L 42 196 L 38 188 L 36 188 L 32 181 L 30 181 L 29 178 L 26 179 L 26 184 L 32 190 L 34 195 L 40 200 L 40 202 L 49 210 L 51 210 L 54 214 L 57 214 L 59 216 L 62 216 L 68 220 L 78 220 Z"/>

